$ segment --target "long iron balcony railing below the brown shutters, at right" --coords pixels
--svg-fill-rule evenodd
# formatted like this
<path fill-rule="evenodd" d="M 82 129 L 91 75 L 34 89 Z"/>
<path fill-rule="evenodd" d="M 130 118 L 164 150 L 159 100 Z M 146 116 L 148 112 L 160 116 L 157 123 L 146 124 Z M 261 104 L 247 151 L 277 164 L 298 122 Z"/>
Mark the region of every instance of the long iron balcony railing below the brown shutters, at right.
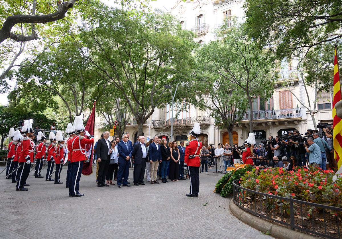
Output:
<path fill-rule="evenodd" d="M 250 120 L 253 114 L 254 119 L 282 119 L 282 118 L 298 118 L 302 117 L 300 108 L 282 109 L 282 110 L 256 110 L 252 113 L 246 112 L 242 120 Z"/>

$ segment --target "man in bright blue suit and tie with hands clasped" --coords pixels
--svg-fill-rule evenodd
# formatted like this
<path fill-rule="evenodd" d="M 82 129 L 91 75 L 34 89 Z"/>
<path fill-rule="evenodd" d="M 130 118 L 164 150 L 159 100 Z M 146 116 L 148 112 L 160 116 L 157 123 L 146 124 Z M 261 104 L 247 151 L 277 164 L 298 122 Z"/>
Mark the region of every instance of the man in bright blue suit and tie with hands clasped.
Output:
<path fill-rule="evenodd" d="M 122 136 L 122 140 L 118 143 L 118 153 L 119 153 L 119 170 L 118 170 L 118 187 L 130 187 L 128 184 L 128 174 L 129 174 L 129 160 L 132 157 L 132 142 L 128 142 L 127 135 Z M 123 180 L 122 180 L 123 178 Z"/>

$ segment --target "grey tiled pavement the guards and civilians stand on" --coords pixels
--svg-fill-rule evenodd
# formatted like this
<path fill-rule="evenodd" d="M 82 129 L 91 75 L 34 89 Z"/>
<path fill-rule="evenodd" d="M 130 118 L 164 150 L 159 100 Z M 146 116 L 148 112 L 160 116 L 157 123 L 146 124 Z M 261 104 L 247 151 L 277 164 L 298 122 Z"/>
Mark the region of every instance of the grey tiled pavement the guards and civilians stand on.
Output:
<path fill-rule="evenodd" d="M 32 172 L 27 192 L 16 192 L 15 184 L 0 174 L 0 238 L 272 238 L 230 212 L 230 199 L 213 193 L 222 174 L 212 171 L 200 174 L 197 198 L 185 197 L 189 180 L 99 188 L 95 174 L 82 175 L 84 197 L 71 198 L 66 167 L 64 184 L 36 179 Z M 130 170 L 131 185 L 132 174 Z"/>

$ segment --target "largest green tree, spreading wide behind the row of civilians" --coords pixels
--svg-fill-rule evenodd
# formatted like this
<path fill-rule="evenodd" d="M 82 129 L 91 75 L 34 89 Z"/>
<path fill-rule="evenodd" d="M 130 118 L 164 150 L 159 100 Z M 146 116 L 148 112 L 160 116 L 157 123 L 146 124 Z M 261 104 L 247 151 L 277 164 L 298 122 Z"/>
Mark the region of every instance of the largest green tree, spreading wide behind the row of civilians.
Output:
<path fill-rule="evenodd" d="M 196 44 L 193 34 L 182 30 L 170 14 L 142 17 L 127 11 L 104 8 L 97 21 L 89 21 L 81 32 L 87 48 L 80 49 L 94 70 L 122 95 L 142 135 L 143 124 L 155 109 L 171 99 L 164 85 L 191 81 Z M 184 91 L 187 87 L 179 89 Z"/>

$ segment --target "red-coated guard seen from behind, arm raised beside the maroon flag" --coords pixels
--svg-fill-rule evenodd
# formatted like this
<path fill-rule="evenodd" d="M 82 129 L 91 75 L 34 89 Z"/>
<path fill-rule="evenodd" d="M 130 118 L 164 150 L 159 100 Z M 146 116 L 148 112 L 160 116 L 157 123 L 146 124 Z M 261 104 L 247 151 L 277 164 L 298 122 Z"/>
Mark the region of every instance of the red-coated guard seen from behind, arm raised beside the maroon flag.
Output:
<path fill-rule="evenodd" d="M 83 194 L 78 192 L 80 187 L 83 162 L 87 159 L 86 144 L 94 143 L 94 136 L 90 135 L 84 129 L 82 115 L 76 116 L 74 121 L 74 130 L 77 135 L 71 140 L 71 173 L 69 182 L 69 197 L 82 197 Z M 85 138 L 88 136 L 89 139 Z"/>

